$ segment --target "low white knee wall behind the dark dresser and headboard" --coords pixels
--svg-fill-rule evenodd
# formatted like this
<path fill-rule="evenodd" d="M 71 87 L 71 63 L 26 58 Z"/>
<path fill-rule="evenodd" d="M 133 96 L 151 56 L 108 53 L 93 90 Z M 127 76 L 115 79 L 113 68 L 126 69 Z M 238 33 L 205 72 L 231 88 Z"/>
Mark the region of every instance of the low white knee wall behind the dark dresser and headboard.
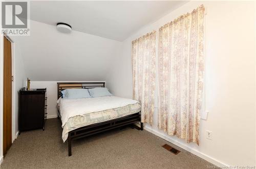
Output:
<path fill-rule="evenodd" d="M 64 81 L 31 81 L 31 88 L 47 88 L 47 118 L 56 118 L 57 117 L 57 82 Z M 65 81 L 73 82 L 73 81 Z M 79 81 L 75 81 L 79 82 Z M 82 81 L 90 82 L 90 81 Z M 104 81 L 94 81 L 94 82 L 104 82 Z M 107 86 L 106 86 L 107 87 Z"/>

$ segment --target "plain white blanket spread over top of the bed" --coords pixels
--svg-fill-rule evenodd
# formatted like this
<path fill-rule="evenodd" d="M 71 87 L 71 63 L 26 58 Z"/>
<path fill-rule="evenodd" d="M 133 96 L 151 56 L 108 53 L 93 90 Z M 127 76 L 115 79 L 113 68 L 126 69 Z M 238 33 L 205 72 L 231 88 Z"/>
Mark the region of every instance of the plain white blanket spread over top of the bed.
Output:
<path fill-rule="evenodd" d="M 62 128 L 70 117 L 87 113 L 114 109 L 138 103 L 132 99 L 119 98 L 117 96 L 104 96 L 84 99 L 59 99 L 60 117 Z"/>

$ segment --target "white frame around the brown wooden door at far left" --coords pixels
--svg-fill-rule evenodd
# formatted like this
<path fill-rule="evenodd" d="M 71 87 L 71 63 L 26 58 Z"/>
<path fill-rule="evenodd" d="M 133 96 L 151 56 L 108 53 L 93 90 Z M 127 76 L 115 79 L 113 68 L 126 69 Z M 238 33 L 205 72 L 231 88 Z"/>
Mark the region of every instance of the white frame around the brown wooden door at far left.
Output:
<path fill-rule="evenodd" d="M 3 156 L 3 129 L 4 129 L 4 123 L 3 123 L 3 102 L 4 102 L 4 96 L 3 96 L 3 89 L 4 89 L 4 36 L 11 42 L 12 47 L 12 76 L 15 77 L 15 43 L 14 41 L 8 37 L 7 35 L 0 35 L 0 164 L 3 162 L 4 156 Z M 15 133 L 15 97 L 16 94 L 15 91 L 15 81 L 12 82 L 12 142 L 16 138 Z"/>

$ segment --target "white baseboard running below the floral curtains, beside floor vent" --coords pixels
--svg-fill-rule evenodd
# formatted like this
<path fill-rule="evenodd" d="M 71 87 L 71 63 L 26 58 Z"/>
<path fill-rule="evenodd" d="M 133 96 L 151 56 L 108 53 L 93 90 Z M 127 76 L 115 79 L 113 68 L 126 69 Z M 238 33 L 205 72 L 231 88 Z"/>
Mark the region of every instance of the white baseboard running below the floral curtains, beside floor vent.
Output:
<path fill-rule="evenodd" d="M 203 154 L 203 153 L 201 153 L 201 152 L 199 152 L 199 151 L 197 151 L 195 149 L 191 149 L 191 148 L 187 147 L 185 144 L 180 143 L 177 140 L 174 140 L 174 139 L 172 139 L 170 137 L 166 137 L 165 135 L 163 135 L 162 133 L 160 133 L 160 132 L 158 132 L 158 131 L 156 131 L 154 129 L 151 129 L 151 128 L 147 127 L 147 126 L 144 126 L 144 129 L 146 131 L 148 131 L 148 132 L 151 132 L 151 133 L 157 135 L 158 137 L 161 137 L 161 138 L 165 139 L 166 141 L 169 141 L 169 142 L 175 144 L 176 146 L 178 146 L 178 147 L 180 147 L 180 148 L 182 148 L 182 149 L 184 149 L 184 150 L 186 150 L 186 151 L 188 151 L 188 152 L 190 152 L 192 154 L 195 154 L 196 156 L 198 156 L 198 157 L 200 157 L 200 158 L 202 158 L 202 159 L 204 159 L 206 161 L 209 161 L 210 163 L 212 163 L 212 164 L 214 164 L 216 166 L 220 166 L 220 167 L 221 166 L 222 167 L 229 166 L 229 165 L 224 164 L 224 163 L 222 163 L 222 162 L 220 162 L 220 161 L 218 161 L 218 160 L 216 160 L 216 159 L 214 159 L 214 158 L 212 158 L 212 157 L 210 157 L 210 156 L 208 156 L 206 154 Z"/>

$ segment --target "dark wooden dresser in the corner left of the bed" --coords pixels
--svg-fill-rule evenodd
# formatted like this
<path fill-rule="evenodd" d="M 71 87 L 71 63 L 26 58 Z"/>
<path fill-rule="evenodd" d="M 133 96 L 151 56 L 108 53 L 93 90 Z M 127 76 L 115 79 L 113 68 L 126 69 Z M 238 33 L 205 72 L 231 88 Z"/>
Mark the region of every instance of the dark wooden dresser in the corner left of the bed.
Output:
<path fill-rule="evenodd" d="M 45 130 L 47 116 L 46 88 L 19 90 L 19 133 L 22 131 L 42 129 Z"/>

